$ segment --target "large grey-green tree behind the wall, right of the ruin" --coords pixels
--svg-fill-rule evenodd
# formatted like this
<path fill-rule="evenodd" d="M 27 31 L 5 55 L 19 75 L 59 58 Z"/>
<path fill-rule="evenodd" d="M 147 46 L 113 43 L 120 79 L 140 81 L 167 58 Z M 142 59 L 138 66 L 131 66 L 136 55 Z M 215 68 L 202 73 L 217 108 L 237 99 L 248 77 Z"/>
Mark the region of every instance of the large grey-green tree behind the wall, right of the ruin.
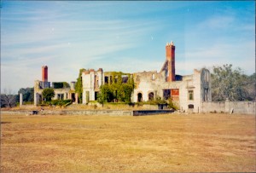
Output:
<path fill-rule="evenodd" d="M 245 101 L 248 98 L 247 76 L 232 65 L 213 66 L 212 101 Z"/>

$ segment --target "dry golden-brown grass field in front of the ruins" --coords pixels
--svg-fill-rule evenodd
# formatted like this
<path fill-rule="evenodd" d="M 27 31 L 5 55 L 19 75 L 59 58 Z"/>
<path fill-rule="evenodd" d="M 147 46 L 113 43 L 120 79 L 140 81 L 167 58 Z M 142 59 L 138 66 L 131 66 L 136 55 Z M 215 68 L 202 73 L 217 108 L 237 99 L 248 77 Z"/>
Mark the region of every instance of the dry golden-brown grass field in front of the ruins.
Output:
<path fill-rule="evenodd" d="M 1 172 L 256 171 L 252 115 L 2 115 L 1 126 Z"/>

